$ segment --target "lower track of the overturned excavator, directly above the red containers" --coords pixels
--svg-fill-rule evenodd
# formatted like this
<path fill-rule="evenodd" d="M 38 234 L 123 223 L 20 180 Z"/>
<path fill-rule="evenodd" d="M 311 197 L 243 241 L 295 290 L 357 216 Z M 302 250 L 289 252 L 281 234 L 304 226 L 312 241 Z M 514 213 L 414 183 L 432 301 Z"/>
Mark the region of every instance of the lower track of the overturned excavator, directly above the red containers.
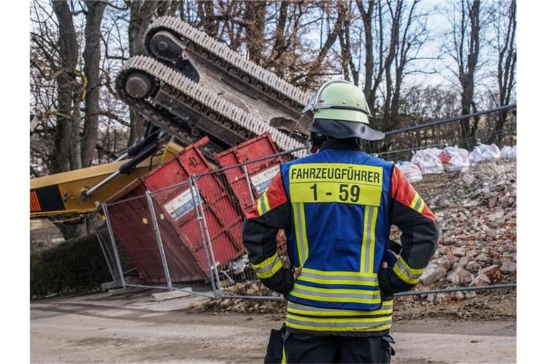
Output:
<path fill-rule="evenodd" d="M 192 136 L 187 132 L 188 128 L 197 127 L 211 135 L 221 148 L 264 132 L 269 132 L 284 151 L 304 145 L 296 136 L 271 127 L 264 119 L 154 58 L 139 55 L 127 60 L 118 75 L 116 87 L 120 97 L 137 112 L 147 117 L 152 116 L 148 115 L 152 112 L 152 122 L 182 141 Z M 173 116 L 186 125 L 169 122 Z M 296 157 L 304 154 L 302 150 L 293 152 Z"/>

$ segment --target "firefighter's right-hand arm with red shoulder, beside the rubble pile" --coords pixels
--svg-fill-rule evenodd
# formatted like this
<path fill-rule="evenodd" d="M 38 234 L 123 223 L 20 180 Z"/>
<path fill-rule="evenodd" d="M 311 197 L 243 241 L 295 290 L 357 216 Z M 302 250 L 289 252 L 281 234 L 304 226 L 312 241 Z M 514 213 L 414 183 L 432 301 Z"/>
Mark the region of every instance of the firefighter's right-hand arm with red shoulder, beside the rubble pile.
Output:
<path fill-rule="evenodd" d="M 390 293 L 407 291 L 417 284 L 437 249 L 439 228 L 437 218 L 415 191 L 407 178 L 393 168 L 390 188 L 390 222 L 402 231 L 397 262 L 387 274 Z"/>

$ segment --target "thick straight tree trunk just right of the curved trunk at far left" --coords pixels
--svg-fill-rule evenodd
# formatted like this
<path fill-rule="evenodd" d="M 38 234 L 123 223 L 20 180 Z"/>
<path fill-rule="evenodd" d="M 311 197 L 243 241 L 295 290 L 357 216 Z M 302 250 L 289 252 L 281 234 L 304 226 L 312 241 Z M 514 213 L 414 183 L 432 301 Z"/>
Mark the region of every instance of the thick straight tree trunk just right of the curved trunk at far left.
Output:
<path fill-rule="evenodd" d="M 85 1 L 88 13 L 85 16 L 85 48 L 83 50 L 83 74 L 85 87 L 85 122 L 83 124 L 82 166 L 88 167 L 95 158 L 99 127 L 100 92 L 100 24 L 106 3 Z"/>

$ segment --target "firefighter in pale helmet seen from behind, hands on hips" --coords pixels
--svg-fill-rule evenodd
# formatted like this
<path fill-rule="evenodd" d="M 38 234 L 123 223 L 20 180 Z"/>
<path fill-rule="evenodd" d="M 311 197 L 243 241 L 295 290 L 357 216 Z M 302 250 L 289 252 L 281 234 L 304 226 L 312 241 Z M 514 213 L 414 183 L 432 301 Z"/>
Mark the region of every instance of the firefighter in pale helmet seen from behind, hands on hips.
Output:
<path fill-rule="evenodd" d="M 393 294 L 424 272 L 437 247 L 436 218 L 394 164 L 362 150 L 363 140 L 384 134 L 368 126 L 360 88 L 326 82 L 308 111 L 316 152 L 281 164 L 243 228 L 256 275 L 288 301 L 265 361 L 390 363 Z M 391 225 L 401 245 L 390 241 Z M 279 229 L 290 269 L 276 252 Z"/>

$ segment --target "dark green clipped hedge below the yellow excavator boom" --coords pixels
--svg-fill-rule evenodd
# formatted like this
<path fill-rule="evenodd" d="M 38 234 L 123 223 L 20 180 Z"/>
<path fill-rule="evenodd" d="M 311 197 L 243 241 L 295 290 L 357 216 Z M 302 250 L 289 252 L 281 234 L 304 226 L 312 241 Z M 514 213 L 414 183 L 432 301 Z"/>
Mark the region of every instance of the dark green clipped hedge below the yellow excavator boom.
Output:
<path fill-rule="evenodd" d="M 31 253 L 31 297 L 94 291 L 111 280 L 94 234 Z"/>

